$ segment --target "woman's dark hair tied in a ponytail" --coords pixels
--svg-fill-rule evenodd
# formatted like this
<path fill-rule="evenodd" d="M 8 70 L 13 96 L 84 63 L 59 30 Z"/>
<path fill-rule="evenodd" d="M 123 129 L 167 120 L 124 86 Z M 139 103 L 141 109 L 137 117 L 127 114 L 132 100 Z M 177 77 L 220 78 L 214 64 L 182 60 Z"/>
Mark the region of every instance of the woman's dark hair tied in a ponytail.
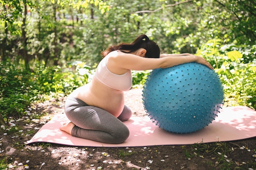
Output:
<path fill-rule="evenodd" d="M 116 50 L 128 50 L 126 53 L 131 53 L 137 51 L 138 49 L 143 48 L 146 49 L 146 58 L 159 58 L 160 49 L 158 45 L 150 40 L 146 35 L 138 36 L 132 43 L 121 43 L 117 46 L 110 46 L 105 51 L 101 51 L 101 56 L 105 57 L 112 51 Z M 124 51 L 123 51 L 124 52 Z"/>

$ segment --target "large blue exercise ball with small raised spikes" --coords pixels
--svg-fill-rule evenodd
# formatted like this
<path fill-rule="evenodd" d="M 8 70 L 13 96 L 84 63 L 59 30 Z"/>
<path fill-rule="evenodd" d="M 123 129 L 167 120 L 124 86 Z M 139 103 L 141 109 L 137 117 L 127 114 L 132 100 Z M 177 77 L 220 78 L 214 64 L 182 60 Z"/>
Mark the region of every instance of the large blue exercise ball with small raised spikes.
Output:
<path fill-rule="evenodd" d="M 142 90 L 144 108 L 159 128 L 191 133 L 215 120 L 224 92 L 218 74 L 198 63 L 154 69 Z"/>

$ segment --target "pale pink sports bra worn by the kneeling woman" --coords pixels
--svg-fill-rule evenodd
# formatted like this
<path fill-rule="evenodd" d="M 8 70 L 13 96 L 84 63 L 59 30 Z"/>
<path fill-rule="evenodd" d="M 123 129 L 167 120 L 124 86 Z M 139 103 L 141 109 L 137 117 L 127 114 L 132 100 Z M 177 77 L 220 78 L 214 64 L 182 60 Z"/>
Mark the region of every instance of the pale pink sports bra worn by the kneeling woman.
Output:
<path fill-rule="evenodd" d="M 132 87 L 131 70 L 121 75 L 110 72 L 107 67 L 107 57 L 104 57 L 99 63 L 95 78 L 104 85 L 120 91 L 128 91 Z"/>

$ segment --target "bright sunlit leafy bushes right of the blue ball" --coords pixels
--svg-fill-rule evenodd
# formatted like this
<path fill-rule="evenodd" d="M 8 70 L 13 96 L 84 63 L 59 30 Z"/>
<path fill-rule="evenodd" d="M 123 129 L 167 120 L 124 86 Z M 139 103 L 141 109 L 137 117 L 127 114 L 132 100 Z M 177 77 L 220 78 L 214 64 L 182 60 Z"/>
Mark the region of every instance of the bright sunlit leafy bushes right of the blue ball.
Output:
<path fill-rule="evenodd" d="M 255 49 L 255 45 L 250 49 L 235 44 L 222 45 L 220 39 L 209 40 L 198 49 L 198 55 L 216 67 L 227 105 L 256 108 L 256 60 L 253 59 L 256 53 L 252 49 Z"/>

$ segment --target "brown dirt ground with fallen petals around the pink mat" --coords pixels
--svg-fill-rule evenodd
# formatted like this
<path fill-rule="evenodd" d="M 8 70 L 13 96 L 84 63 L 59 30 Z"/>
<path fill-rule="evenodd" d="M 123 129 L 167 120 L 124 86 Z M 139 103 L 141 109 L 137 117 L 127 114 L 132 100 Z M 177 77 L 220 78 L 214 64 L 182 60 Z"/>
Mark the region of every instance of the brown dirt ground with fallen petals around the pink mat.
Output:
<path fill-rule="evenodd" d="M 145 116 L 141 89 L 125 92 L 134 116 Z M 256 137 L 240 141 L 131 148 L 95 148 L 26 141 L 64 112 L 65 98 L 28 108 L 0 128 L 0 169 L 16 170 L 256 170 Z M 40 118 L 40 115 L 43 117 Z M 40 118 L 40 119 L 39 119 Z M 8 168 L 4 168 L 7 164 Z"/>

